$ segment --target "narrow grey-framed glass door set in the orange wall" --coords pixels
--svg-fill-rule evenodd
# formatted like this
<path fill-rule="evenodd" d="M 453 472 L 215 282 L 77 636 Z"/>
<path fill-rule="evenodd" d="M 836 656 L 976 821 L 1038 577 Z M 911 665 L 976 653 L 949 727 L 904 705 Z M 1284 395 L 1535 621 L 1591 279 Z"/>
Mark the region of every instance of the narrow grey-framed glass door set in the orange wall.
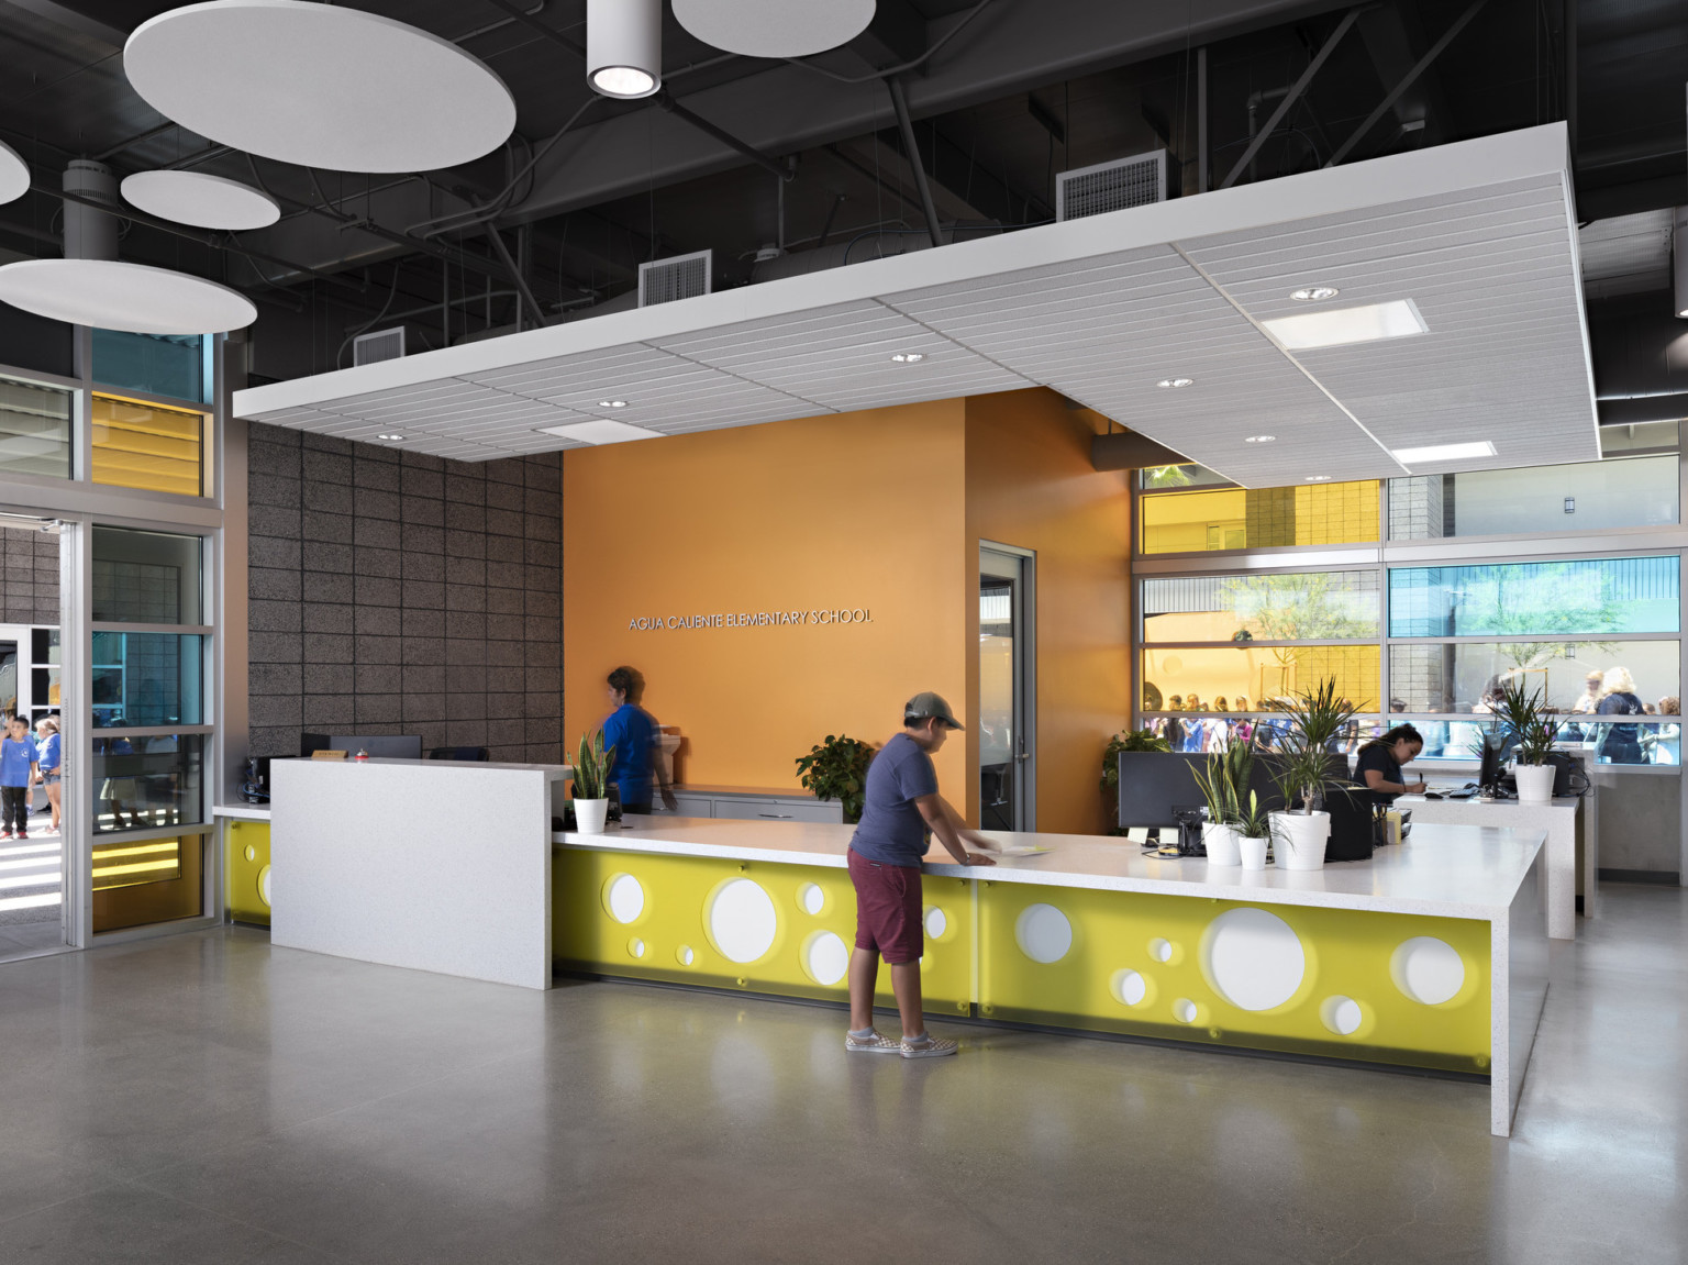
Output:
<path fill-rule="evenodd" d="M 979 828 L 1036 829 L 1035 576 L 1030 552 L 979 549 Z"/>

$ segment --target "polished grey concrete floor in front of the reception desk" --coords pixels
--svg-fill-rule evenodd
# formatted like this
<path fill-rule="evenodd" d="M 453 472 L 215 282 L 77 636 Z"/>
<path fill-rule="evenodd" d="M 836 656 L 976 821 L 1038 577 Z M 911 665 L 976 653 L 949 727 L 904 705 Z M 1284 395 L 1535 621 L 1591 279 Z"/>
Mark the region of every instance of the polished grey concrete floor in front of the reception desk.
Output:
<path fill-rule="evenodd" d="M 1605 897 L 1511 1140 L 1475 1084 L 954 1027 L 846 1056 L 834 1010 L 240 929 L 10 963 L 0 1262 L 1676 1263 L 1688 899 Z"/>

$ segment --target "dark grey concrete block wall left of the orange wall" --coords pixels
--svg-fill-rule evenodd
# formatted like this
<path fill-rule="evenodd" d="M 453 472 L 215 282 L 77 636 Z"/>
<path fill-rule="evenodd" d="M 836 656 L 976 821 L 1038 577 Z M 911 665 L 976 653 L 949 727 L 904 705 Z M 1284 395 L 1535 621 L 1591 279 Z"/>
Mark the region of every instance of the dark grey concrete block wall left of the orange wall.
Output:
<path fill-rule="evenodd" d="M 562 760 L 562 459 L 464 463 L 253 424 L 253 755 L 300 731 Z"/>

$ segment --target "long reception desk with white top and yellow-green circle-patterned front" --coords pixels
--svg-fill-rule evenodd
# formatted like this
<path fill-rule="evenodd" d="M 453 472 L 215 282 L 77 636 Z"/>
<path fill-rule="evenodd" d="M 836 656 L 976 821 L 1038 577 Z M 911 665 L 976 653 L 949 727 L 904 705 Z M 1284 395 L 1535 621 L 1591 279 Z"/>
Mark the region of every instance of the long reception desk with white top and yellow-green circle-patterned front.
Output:
<path fill-rule="evenodd" d="M 846 998 L 849 826 L 647 817 L 554 838 L 564 969 Z M 1509 1133 L 1546 995 L 1539 831 L 1425 824 L 1310 873 L 991 838 L 1048 851 L 927 858 L 928 1013 L 1487 1076 Z"/>

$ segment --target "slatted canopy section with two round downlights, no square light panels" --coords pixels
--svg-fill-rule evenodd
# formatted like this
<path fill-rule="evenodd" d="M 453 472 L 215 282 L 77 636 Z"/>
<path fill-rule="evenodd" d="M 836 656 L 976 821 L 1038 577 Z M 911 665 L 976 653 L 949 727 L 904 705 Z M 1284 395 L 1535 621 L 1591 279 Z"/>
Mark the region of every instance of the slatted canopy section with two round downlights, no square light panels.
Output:
<path fill-rule="evenodd" d="M 1170 247 L 885 301 L 1247 486 L 1376 478 L 1389 463 Z M 1156 385 L 1175 377 L 1195 385 Z M 1274 439 L 1249 444 L 1258 434 Z"/>

